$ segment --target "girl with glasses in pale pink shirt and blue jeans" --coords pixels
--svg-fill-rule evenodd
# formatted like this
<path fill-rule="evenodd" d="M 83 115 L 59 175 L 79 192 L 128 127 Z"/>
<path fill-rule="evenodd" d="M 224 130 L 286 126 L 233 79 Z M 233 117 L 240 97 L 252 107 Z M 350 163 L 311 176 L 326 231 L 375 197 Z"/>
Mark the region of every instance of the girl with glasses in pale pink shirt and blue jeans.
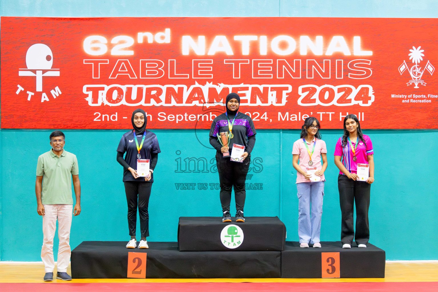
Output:
<path fill-rule="evenodd" d="M 321 140 L 319 128 L 319 121 L 313 116 L 308 117 L 301 127 L 300 139 L 293 143 L 292 165 L 297 170 L 300 247 L 309 247 L 309 243 L 313 244 L 313 247 L 321 247 L 319 235 L 327 148 Z"/>

